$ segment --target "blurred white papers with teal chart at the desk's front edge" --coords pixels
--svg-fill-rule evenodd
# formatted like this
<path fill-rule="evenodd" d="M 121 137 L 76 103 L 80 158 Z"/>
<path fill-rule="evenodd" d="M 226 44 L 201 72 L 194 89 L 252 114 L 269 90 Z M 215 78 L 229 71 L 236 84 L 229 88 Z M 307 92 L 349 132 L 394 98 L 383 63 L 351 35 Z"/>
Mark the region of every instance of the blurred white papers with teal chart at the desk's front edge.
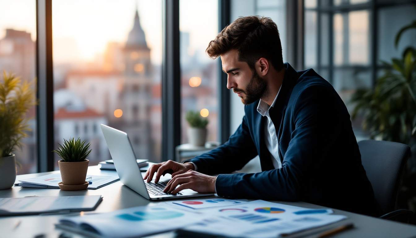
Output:
<path fill-rule="evenodd" d="M 202 220 L 198 214 L 167 205 L 127 208 L 111 213 L 67 217 L 58 228 L 100 237 L 141 237 L 175 230 Z"/>

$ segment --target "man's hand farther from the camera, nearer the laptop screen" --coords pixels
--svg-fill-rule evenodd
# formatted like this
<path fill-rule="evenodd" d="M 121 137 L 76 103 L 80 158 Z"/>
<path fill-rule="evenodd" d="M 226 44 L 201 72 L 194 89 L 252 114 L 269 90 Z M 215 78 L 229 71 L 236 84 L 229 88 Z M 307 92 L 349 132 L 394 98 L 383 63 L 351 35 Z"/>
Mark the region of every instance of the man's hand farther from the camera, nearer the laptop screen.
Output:
<path fill-rule="evenodd" d="M 168 171 L 167 171 L 168 170 Z M 170 170 L 170 171 L 169 171 Z M 168 160 L 166 162 L 154 164 L 146 171 L 144 179 L 147 179 L 147 182 L 150 183 L 153 180 L 153 175 L 156 173 L 155 183 L 159 182 L 159 179 L 162 175 L 165 175 L 168 172 L 173 172 L 172 177 L 175 175 L 183 174 L 188 170 L 195 170 L 195 167 L 192 163 L 178 163 L 173 160 Z"/>

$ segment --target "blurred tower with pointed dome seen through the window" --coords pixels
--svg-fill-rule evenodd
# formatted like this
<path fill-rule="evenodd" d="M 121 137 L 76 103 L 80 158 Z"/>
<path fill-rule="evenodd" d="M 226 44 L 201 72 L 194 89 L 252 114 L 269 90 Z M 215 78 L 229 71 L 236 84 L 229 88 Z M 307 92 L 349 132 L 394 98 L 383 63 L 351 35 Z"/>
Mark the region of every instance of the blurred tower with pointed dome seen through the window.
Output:
<path fill-rule="evenodd" d="M 151 84 L 150 49 L 136 8 L 133 28 L 124 46 L 124 84 L 120 95 L 123 116 L 121 128 L 129 133 L 138 159 L 151 159 Z"/>

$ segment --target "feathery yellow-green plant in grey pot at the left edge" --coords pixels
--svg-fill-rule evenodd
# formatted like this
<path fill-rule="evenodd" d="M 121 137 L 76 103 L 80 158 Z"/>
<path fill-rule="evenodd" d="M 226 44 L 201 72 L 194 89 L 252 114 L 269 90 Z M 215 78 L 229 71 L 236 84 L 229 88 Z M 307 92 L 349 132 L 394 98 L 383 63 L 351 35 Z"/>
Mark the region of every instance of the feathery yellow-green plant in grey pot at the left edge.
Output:
<path fill-rule="evenodd" d="M 16 180 L 16 158 L 12 152 L 27 137 L 26 113 L 36 105 L 32 84 L 3 71 L 0 81 L 0 189 L 11 188 Z"/>

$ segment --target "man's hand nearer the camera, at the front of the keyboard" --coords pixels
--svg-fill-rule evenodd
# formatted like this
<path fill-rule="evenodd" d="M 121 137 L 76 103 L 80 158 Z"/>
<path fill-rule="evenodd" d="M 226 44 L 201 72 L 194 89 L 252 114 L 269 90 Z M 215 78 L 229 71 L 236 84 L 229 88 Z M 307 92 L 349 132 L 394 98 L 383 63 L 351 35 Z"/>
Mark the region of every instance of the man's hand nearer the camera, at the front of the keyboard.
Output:
<path fill-rule="evenodd" d="M 190 188 L 198 193 L 215 193 L 216 180 L 215 176 L 188 170 L 186 173 L 173 176 L 163 192 L 176 194 L 183 189 Z M 178 185 L 181 186 L 176 188 Z"/>

